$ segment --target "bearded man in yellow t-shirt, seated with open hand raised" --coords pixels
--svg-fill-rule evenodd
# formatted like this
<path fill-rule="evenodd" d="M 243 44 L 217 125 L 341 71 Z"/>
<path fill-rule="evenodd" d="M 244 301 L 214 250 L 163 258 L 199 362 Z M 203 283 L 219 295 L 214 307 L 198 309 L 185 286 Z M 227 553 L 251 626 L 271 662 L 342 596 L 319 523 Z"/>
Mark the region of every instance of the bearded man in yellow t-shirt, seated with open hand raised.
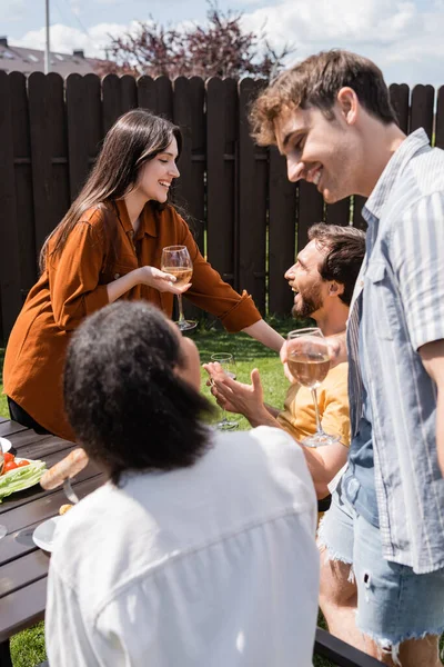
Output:
<path fill-rule="evenodd" d="M 354 283 L 365 255 L 365 235 L 353 227 L 314 225 L 309 243 L 299 252 L 285 279 L 295 292 L 292 315 L 311 317 L 324 336 L 345 330 Z M 251 372 L 251 385 L 232 380 L 216 364 L 206 364 L 212 394 L 231 412 L 246 417 L 253 427 L 285 429 L 297 442 L 316 430 L 313 397 L 306 387 L 291 385 L 283 410 L 266 406 L 259 370 Z M 325 432 L 339 441 L 316 449 L 304 447 L 305 458 L 319 498 L 329 495 L 327 485 L 343 468 L 350 445 L 347 364 L 332 368 L 317 389 L 319 409 Z"/>

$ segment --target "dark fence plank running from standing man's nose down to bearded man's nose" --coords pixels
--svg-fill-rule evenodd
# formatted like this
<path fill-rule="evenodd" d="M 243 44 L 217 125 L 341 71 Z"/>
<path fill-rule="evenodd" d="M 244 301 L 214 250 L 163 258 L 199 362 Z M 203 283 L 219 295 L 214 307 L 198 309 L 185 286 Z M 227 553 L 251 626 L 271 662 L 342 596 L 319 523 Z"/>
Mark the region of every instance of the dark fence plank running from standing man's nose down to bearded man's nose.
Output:
<path fill-rule="evenodd" d="M 286 176 L 285 159 L 270 149 L 269 190 L 269 312 L 289 315 L 293 292 L 284 272 L 294 263 L 296 236 L 296 185 Z"/>

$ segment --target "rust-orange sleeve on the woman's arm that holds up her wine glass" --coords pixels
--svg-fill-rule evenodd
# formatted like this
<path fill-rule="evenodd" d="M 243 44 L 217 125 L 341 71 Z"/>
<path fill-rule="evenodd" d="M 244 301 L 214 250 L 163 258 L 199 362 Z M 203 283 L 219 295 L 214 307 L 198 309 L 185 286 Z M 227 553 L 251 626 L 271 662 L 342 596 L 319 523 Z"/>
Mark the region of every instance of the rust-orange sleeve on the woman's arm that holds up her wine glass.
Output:
<path fill-rule="evenodd" d="M 49 289 L 54 320 L 60 329 L 75 329 L 87 315 L 109 302 L 99 285 L 103 240 L 90 222 L 78 222 L 56 261 L 48 260 Z"/>

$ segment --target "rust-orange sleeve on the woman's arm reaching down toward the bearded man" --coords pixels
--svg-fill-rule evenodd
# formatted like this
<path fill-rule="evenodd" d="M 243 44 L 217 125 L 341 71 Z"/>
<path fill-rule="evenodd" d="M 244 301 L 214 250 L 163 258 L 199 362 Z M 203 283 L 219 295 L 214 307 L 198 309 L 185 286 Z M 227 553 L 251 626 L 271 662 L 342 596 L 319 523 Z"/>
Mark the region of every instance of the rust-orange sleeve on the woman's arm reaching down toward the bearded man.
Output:
<path fill-rule="evenodd" d="M 254 301 L 244 290 L 239 295 L 201 255 L 186 222 L 176 215 L 179 238 L 193 261 L 192 286 L 185 297 L 192 303 L 218 317 L 225 329 L 236 332 L 262 319 Z"/>

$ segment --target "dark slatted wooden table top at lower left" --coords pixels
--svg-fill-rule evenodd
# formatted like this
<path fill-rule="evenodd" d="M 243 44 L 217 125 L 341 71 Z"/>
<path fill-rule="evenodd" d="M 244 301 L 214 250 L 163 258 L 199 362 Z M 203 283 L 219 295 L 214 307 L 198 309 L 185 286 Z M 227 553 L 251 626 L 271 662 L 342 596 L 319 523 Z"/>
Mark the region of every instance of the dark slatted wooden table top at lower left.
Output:
<path fill-rule="evenodd" d="M 0 436 L 8 438 L 17 456 L 41 459 L 50 468 L 75 446 L 56 436 L 38 436 L 16 421 L 0 417 Z M 72 480 L 83 498 L 103 484 L 99 469 L 89 464 Z M 8 535 L 0 539 L 0 643 L 44 617 L 49 554 L 32 541 L 34 528 L 59 514 L 68 502 L 62 488 L 44 491 L 36 485 L 12 494 L 0 504 L 0 524 Z"/>

